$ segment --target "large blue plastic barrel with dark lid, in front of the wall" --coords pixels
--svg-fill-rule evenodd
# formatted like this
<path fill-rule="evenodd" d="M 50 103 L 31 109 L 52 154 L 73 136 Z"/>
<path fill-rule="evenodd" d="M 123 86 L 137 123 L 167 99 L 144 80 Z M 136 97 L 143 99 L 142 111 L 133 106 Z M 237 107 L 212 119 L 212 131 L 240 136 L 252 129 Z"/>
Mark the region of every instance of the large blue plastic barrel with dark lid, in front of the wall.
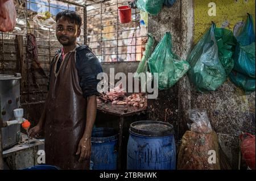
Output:
<path fill-rule="evenodd" d="M 127 170 L 175 170 L 174 129 L 160 121 L 138 121 L 130 125 Z"/>

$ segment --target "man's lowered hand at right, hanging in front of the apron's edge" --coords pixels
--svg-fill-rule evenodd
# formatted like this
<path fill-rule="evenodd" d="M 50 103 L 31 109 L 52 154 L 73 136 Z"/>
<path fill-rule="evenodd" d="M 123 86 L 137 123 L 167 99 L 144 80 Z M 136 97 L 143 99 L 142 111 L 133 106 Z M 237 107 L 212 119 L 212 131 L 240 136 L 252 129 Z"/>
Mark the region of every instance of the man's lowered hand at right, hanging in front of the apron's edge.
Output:
<path fill-rule="evenodd" d="M 80 154 L 79 162 L 83 159 L 90 159 L 91 148 L 90 138 L 81 138 L 76 152 L 77 155 Z"/>

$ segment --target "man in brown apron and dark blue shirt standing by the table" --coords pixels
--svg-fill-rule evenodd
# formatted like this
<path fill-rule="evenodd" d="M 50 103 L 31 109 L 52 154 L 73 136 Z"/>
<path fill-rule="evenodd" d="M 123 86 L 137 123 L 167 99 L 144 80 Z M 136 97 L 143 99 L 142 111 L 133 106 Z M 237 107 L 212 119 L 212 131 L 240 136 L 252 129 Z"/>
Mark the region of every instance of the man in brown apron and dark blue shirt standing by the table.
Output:
<path fill-rule="evenodd" d="M 88 169 L 91 134 L 97 110 L 100 62 L 77 45 L 81 17 L 75 11 L 56 15 L 56 37 L 63 45 L 51 62 L 49 92 L 31 137 L 45 130 L 46 163 L 60 169 Z"/>

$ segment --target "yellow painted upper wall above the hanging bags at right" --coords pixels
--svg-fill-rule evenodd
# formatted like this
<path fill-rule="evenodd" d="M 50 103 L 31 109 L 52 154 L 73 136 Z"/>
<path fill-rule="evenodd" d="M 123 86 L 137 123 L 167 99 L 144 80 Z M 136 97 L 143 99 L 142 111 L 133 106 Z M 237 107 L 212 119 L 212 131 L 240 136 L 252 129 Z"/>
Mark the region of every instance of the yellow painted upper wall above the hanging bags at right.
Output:
<path fill-rule="evenodd" d="M 216 3 L 216 16 L 209 16 L 208 4 Z M 217 27 L 228 20 L 230 23 L 229 30 L 233 31 L 234 24 L 245 20 L 247 12 L 254 16 L 255 21 L 255 0 L 194 0 L 194 43 L 208 30 L 211 22 L 215 22 Z M 255 26 L 255 25 L 254 25 Z"/>

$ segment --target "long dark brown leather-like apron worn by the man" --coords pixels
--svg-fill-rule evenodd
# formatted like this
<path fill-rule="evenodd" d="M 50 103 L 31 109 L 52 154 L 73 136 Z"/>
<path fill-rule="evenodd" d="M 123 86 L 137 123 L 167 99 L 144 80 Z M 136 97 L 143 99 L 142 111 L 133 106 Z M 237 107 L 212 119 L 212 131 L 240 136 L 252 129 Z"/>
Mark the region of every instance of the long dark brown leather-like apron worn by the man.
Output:
<path fill-rule="evenodd" d="M 76 155 L 86 125 L 86 99 L 82 96 L 75 65 L 75 50 L 69 52 L 56 73 L 60 54 L 53 60 L 46 100 L 46 164 L 60 169 L 88 169 L 89 161 Z"/>

